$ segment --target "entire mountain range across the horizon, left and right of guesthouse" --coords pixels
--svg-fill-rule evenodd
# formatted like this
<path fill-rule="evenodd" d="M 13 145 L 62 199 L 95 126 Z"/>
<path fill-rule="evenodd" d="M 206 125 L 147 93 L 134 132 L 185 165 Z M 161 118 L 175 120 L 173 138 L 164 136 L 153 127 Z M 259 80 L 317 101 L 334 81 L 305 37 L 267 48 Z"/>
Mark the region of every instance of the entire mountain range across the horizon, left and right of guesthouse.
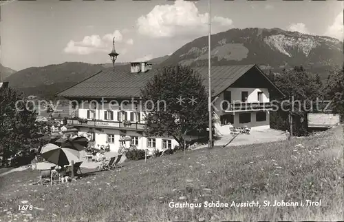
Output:
<path fill-rule="evenodd" d="M 262 70 L 280 72 L 303 65 L 306 70 L 326 79 L 328 70 L 343 65 L 343 42 L 331 37 L 289 32 L 279 28 L 230 29 L 211 36 L 211 65 L 259 65 Z M 197 38 L 171 56 L 151 59 L 153 65 L 208 65 L 208 37 Z M 127 63 L 116 63 L 126 65 Z M 89 64 L 65 62 L 32 67 L 8 74 L 6 81 L 26 94 L 52 97 L 92 74 L 109 68 L 112 63 Z M 30 81 L 28 81 L 30 80 Z"/>

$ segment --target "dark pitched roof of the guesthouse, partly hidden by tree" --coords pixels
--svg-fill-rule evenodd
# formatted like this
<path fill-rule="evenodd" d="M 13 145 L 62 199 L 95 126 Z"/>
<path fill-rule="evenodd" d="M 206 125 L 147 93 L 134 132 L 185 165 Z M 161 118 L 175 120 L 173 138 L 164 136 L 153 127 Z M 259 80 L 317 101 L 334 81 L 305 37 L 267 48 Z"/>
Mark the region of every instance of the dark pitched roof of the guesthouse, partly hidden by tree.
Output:
<path fill-rule="evenodd" d="M 211 67 L 211 88 L 213 95 L 217 96 L 226 90 L 226 88 L 253 67 L 258 68 L 258 66 L 254 64 Z M 208 67 L 195 67 L 193 70 L 200 73 L 203 84 L 208 86 Z M 261 72 L 259 68 L 258 70 Z M 129 65 L 121 65 L 118 66 L 118 68 L 115 67 L 115 72 L 112 68 L 103 70 L 62 92 L 58 92 L 56 95 L 67 98 L 140 97 L 140 90 L 144 88 L 147 82 L 153 78 L 157 72 L 158 68 L 153 68 L 146 73 L 130 73 Z M 264 72 L 261 72 L 261 74 L 264 74 Z M 266 77 L 265 74 L 264 76 Z M 206 87 L 206 89 L 207 88 L 208 87 Z"/>

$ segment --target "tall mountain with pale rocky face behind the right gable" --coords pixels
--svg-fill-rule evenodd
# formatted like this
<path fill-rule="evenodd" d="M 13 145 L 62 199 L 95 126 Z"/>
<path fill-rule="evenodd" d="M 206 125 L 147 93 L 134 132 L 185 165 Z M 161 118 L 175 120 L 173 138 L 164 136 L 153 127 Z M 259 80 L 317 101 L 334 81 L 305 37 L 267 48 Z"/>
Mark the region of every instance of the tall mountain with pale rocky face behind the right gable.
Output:
<path fill-rule="evenodd" d="M 211 65 L 255 63 L 263 70 L 276 72 L 303 65 L 313 72 L 324 72 L 335 65 L 343 65 L 343 61 L 343 42 L 331 37 L 279 28 L 235 28 L 211 36 Z M 208 65 L 208 37 L 182 46 L 162 65 L 174 63 Z"/>

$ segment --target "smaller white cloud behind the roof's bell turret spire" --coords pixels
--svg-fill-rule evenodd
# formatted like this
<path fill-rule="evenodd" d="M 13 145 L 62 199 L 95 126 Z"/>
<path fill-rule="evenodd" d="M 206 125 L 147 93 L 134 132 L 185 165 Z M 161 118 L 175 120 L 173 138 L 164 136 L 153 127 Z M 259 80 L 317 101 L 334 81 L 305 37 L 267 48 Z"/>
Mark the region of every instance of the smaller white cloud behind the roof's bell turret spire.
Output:
<path fill-rule="evenodd" d="M 69 41 L 64 48 L 65 53 L 69 54 L 92 54 L 94 52 L 108 52 L 111 50 L 112 40 L 115 38 L 116 50 L 121 48 L 124 43 L 133 45 L 133 39 L 124 41 L 122 33 L 115 30 L 113 33 L 105 34 L 100 37 L 98 34 L 85 36 L 82 41 Z M 126 51 L 127 52 L 127 51 Z"/>

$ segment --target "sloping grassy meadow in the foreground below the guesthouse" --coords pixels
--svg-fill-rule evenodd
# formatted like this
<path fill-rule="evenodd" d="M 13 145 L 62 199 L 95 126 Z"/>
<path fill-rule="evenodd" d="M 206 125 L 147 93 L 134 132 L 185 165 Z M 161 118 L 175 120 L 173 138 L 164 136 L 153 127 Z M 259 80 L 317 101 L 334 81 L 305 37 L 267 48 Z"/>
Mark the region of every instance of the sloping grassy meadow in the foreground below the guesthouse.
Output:
<path fill-rule="evenodd" d="M 1 177 L 0 218 L 23 221 L 343 220 L 343 127 L 259 145 L 131 161 L 73 183 L 29 185 L 39 172 Z M 321 206 L 264 207 L 264 201 Z M 21 201 L 24 201 L 21 203 Z M 26 202 L 27 201 L 27 202 Z M 169 203 L 259 201 L 261 208 L 170 208 Z M 18 205 L 32 205 L 20 211 Z"/>

